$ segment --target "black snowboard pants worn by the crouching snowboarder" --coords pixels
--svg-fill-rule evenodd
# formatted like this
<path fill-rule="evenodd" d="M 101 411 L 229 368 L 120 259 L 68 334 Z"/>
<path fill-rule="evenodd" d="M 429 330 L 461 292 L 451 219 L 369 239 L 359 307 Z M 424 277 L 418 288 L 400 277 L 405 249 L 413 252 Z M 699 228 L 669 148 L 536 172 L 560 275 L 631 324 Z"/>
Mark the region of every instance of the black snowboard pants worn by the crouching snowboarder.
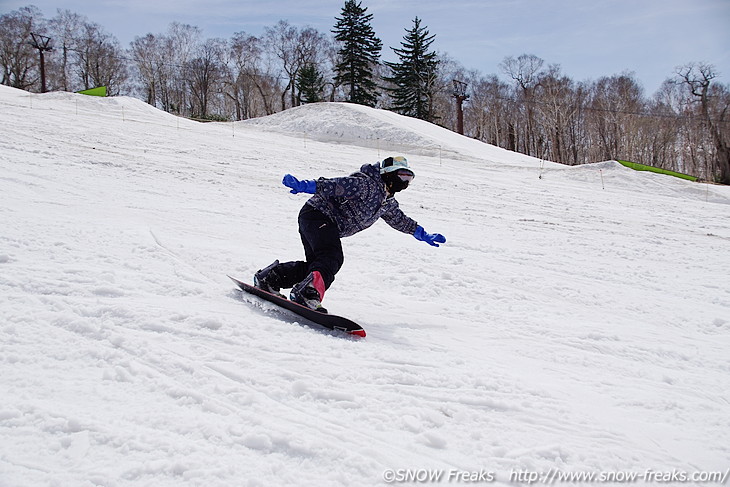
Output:
<path fill-rule="evenodd" d="M 329 289 L 345 261 L 337 225 L 318 209 L 305 204 L 299 212 L 299 235 L 307 261 L 279 264 L 276 271 L 281 278 L 281 287 L 291 288 L 310 272 L 319 271 L 325 288 Z"/>

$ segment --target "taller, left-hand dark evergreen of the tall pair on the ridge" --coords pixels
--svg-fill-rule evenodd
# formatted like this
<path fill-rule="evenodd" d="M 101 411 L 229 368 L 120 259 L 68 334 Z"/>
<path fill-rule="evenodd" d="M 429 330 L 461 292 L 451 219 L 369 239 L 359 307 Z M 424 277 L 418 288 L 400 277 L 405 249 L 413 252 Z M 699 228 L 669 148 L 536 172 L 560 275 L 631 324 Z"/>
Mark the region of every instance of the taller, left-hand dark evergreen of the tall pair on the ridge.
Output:
<path fill-rule="evenodd" d="M 347 101 L 374 107 L 378 100 L 377 84 L 373 81 L 373 67 L 378 63 L 383 43 L 375 37 L 370 22 L 372 14 L 366 14 L 362 2 L 347 0 L 342 17 L 332 33 L 342 43 L 339 62 L 335 66 L 335 84 L 347 90 Z"/>

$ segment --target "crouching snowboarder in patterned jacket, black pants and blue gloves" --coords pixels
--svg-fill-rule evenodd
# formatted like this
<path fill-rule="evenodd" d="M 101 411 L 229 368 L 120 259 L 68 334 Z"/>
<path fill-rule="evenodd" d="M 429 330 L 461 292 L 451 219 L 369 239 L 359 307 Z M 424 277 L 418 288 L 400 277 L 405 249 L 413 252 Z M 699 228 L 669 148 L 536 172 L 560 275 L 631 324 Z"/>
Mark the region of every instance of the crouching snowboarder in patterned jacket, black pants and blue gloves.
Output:
<path fill-rule="evenodd" d="M 313 194 L 299 212 L 299 234 L 305 261 L 274 261 L 254 275 L 254 285 L 280 296 L 291 288 L 290 299 L 310 309 L 326 313 L 322 307 L 325 290 L 342 267 L 342 237 L 365 230 L 378 218 L 401 232 L 434 247 L 445 243 L 438 233 L 430 234 L 403 213 L 394 198 L 413 180 L 415 174 L 405 157 L 388 157 L 365 164 L 348 177 L 300 181 L 291 174 L 282 183 L 290 193 Z"/>

